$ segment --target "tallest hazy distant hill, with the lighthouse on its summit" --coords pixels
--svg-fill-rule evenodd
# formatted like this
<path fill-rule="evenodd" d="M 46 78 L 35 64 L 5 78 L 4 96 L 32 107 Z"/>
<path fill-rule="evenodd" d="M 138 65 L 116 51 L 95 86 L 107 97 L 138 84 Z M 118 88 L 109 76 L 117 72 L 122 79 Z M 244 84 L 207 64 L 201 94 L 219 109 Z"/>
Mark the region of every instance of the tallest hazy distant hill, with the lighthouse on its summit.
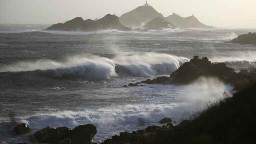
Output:
<path fill-rule="evenodd" d="M 128 27 L 142 27 L 154 18 L 163 17 L 152 6 L 139 6 L 136 9 L 123 14 L 119 19 L 120 22 Z"/>

